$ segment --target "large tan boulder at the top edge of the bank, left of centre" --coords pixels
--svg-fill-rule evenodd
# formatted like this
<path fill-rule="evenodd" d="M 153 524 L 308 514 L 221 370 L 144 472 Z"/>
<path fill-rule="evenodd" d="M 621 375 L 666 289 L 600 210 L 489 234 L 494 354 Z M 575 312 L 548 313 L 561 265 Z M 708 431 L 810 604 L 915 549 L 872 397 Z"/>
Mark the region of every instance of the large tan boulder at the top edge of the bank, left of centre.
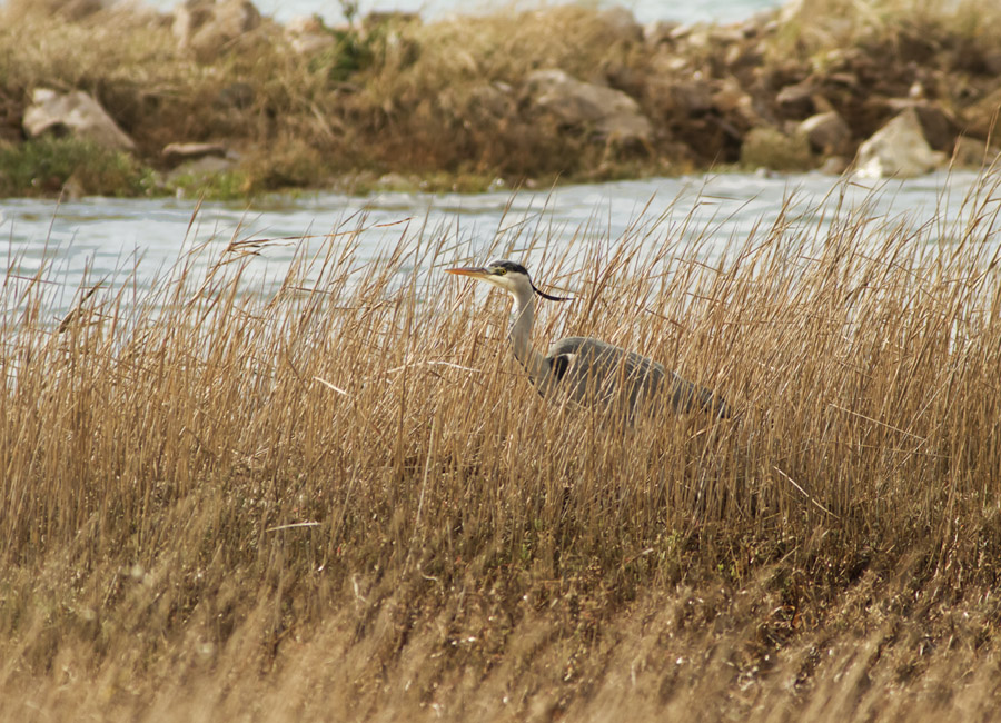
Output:
<path fill-rule="evenodd" d="M 186 0 L 175 11 L 172 30 L 182 50 L 191 50 L 199 62 L 211 62 L 259 26 L 260 13 L 249 0 Z"/>

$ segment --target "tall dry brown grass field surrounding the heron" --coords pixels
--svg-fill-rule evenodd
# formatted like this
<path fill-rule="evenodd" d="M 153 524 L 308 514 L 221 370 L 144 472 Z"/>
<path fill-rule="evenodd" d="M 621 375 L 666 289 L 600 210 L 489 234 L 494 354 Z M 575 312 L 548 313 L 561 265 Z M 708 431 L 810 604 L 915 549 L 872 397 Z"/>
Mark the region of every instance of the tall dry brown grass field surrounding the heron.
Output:
<path fill-rule="evenodd" d="M 0 720 L 1001 719 L 999 208 L 835 191 L 717 259 L 670 209 L 498 232 L 576 297 L 537 346 L 655 356 L 720 422 L 541 398 L 454 229 L 366 260 L 353 219 L 274 295 L 234 242 L 54 321 L 9 260 Z"/>

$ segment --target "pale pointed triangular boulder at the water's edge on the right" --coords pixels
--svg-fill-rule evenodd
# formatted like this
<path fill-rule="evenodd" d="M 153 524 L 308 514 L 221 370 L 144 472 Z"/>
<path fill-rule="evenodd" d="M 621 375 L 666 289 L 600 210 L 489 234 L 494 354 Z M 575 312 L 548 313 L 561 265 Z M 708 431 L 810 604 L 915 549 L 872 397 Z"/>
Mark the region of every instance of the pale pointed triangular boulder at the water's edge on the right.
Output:
<path fill-rule="evenodd" d="M 862 143 L 855 172 L 868 178 L 913 178 L 944 161 L 945 153 L 928 145 L 918 113 L 910 108 Z"/>

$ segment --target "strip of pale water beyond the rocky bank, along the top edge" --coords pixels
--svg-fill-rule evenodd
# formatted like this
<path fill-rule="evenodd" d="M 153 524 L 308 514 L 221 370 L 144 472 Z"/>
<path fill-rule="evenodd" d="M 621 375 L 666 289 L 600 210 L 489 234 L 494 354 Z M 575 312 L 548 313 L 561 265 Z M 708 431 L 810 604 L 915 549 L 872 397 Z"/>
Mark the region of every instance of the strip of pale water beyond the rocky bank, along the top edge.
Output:
<path fill-rule="evenodd" d="M 169 11 L 179 0 L 147 0 L 148 4 L 161 11 Z M 287 22 L 298 16 L 318 14 L 328 23 L 336 24 L 344 20 L 341 3 L 331 0 L 255 0 L 261 14 L 279 22 Z M 418 12 L 425 19 L 440 18 L 447 14 L 497 12 L 512 8 L 533 9 L 566 4 L 562 2 L 543 2 L 521 0 L 513 2 L 486 2 L 468 0 L 359 0 L 359 14 L 374 10 L 400 10 Z M 587 2 L 588 7 L 623 7 L 632 10 L 636 20 L 646 23 L 654 20 L 673 20 L 676 22 L 737 22 L 750 18 L 755 12 L 776 8 L 781 0 L 705 0 L 703 2 L 664 2 L 663 0 L 601 0 Z"/>

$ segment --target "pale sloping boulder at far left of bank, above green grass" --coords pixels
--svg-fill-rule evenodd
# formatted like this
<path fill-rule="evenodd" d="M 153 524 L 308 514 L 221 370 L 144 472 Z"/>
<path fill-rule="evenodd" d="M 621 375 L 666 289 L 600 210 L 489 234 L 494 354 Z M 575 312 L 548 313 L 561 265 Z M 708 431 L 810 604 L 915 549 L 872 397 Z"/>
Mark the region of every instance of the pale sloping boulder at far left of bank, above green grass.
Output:
<path fill-rule="evenodd" d="M 37 89 L 24 111 L 22 126 L 30 138 L 69 133 L 112 150 L 136 148 L 101 105 L 82 90 L 59 93 L 48 88 Z"/>

